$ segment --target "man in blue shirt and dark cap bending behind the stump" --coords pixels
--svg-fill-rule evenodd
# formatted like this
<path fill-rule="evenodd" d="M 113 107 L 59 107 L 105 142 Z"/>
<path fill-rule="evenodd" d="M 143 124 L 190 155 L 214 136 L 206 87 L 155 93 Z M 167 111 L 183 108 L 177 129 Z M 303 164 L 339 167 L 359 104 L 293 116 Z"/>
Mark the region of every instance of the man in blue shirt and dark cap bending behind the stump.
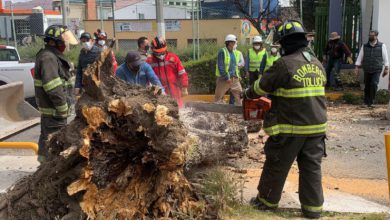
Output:
<path fill-rule="evenodd" d="M 154 73 L 152 67 L 141 59 L 136 51 L 130 51 L 126 55 L 125 63 L 116 70 L 116 76 L 129 84 L 148 86 L 150 83 L 160 87 L 163 92 L 163 86 Z"/>

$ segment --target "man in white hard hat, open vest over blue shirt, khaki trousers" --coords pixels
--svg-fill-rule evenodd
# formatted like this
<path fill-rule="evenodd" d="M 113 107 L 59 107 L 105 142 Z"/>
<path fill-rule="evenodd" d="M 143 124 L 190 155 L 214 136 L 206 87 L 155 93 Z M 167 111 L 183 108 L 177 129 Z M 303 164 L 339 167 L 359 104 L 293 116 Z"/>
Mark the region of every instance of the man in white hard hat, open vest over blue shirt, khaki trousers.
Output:
<path fill-rule="evenodd" d="M 222 48 L 218 52 L 217 65 L 215 75 L 217 76 L 216 88 L 215 88 L 215 102 L 222 102 L 223 96 L 227 91 L 234 96 L 235 105 L 241 105 L 240 94 L 242 87 L 240 84 L 240 52 L 234 50 L 237 44 L 237 37 L 233 34 L 229 34 L 225 38 L 226 47 Z"/>

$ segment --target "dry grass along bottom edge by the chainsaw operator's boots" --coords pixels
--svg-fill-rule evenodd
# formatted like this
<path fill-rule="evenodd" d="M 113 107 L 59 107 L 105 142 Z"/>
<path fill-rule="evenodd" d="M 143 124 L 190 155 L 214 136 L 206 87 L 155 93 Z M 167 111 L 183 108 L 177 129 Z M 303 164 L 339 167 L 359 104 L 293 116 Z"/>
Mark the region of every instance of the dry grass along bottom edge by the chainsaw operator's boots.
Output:
<path fill-rule="evenodd" d="M 238 199 L 242 190 L 239 175 L 230 171 L 214 168 L 207 171 L 201 182 L 201 192 L 218 213 L 220 219 L 257 220 L 257 219 L 302 219 L 299 209 L 277 209 L 260 211 Z M 354 214 L 323 212 L 321 219 L 382 220 L 390 219 L 388 213 Z"/>

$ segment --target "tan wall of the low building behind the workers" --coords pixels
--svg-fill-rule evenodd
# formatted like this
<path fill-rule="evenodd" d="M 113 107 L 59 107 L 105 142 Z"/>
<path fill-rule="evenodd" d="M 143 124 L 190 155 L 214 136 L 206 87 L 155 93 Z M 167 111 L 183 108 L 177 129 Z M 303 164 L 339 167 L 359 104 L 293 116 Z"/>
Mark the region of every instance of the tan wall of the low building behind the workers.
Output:
<path fill-rule="evenodd" d="M 169 20 L 166 20 L 166 22 Z M 185 48 L 188 46 L 187 41 L 192 39 L 192 20 L 174 20 L 180 23 L 180 30 L 169 31 L 166 30 L 166 39 L 177 39 L 178 48 Z M 127 23 L 132 28 L 138 29 L 138 31 L 132 32 L 116 32 L 116 39 L 118 40 L 136 40 L 141 36 L 146 36 L 152 39 L 157 34 L 157 25 L 154 20 L 132 21 L 132 20 L 116 20 L 116 25 L 120 23 Z M 200 20 L 199 21 L 199 38 L 200 39 L 216 39 L 218 45 L 223 45 L 225 36 L 227 34 L 234 34 L 238 37 L 238 42 L 244 43 L 245 38 L 251 38 L 257 35 L 255 28 L 251 27 L 251 31 L 248 35 L 244 36 L 242 33 L 241 19 L 216 19 L 216 20 Z M 100 21 L 84 21 L 85 30 L 87 32 L 93 32 L 96 28 L 100 27 Z M 104 30 L 107 32 L 108 37 L 113 36 L 113 22 L 105 21 Z M 147 29 L 150 31 L 140 31 Z M 134 41 L 129 42 L 134 45 Z M 133 48 L 135 49 L 135 48 Z"/>

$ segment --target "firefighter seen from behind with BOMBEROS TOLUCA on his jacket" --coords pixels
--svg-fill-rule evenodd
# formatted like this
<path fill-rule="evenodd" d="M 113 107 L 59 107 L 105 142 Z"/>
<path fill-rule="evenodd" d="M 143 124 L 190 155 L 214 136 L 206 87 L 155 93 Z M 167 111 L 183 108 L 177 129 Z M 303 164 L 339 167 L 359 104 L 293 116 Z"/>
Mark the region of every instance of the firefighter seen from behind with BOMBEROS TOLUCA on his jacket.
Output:
<path fill-rule="evenodd" d="M 269 94 L 272 107 L 265 115 L 266 161 L 251 204 L 259 209 L 278 207 L 294 160 L 299 168 L 299 200 L 304 217 L 319 218 L 324 202 L 321 161 L 326 156 L 326 72 L 307 48 L 302 24 L 287 21 L 276 29 L 282 57 L 249 89 L 246 98 Z"/>

